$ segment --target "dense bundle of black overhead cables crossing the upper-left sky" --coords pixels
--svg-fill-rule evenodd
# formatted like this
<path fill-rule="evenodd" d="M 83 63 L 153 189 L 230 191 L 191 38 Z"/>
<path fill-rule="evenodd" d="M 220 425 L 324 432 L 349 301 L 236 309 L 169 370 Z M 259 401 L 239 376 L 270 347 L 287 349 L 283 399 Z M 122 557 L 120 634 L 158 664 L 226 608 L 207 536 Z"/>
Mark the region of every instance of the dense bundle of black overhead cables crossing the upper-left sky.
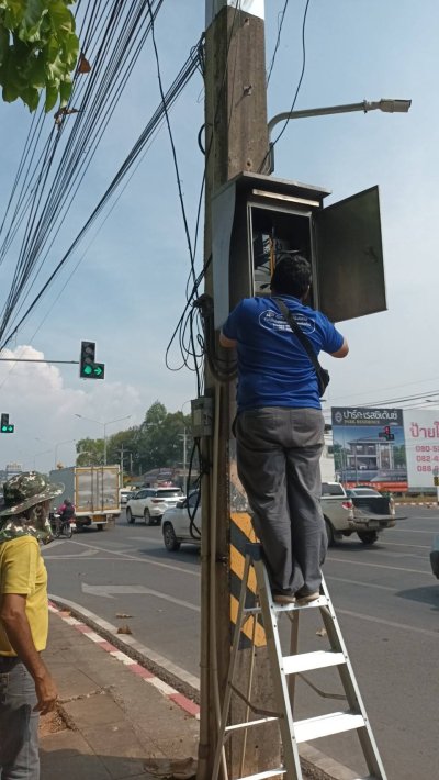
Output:
<path fill-rule="evenodd" d="M 0 343 L 16 321 L 78 194 L 90 163 L 150 33 L 164 0 L 78 3 L 82 53 L 68 105 L 31 123 L 0 225 L 0 264 L 20 232 L 16 267 L 0 321 Z M 87 75 L 86 75 L 87 74 Z M 43 131 L 52 127 L 45 142 Z M 70 133 L 67 136 L 67 129 Z M 16 253 L 15 253 L 16 255 Z M 30 310 L 27 310 L 30 311 Z M 23 322 L 21 320 L 20 324 Z M 16 332 L 15 326 L 14 332 Z"/>

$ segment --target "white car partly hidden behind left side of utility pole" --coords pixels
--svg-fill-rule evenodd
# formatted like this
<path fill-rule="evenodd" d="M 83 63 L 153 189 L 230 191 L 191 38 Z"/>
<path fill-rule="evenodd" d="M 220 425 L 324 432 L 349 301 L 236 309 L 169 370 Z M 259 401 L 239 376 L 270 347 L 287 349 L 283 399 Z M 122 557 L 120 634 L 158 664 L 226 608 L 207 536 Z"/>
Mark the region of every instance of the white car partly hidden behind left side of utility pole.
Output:
<path fill-rule="evenodd" d="M 198 492 L 178 501 L 173 509 L 165 512 L 161 532 L 165 547 L 170 553 L 179 550 L 183 542 L 201 544 L 201 505 Z"/>

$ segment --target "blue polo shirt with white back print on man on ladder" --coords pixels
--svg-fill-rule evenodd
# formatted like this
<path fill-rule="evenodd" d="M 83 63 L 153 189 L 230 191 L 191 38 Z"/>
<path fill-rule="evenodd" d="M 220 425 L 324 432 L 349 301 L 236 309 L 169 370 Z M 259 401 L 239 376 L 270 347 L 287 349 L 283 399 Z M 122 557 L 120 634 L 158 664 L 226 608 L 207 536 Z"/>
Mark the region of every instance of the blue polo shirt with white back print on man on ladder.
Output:
<path fill-rule="evenodd" d="M 333 323 L 292 296 L 281 298 L 318 355 L 335 353 L 344 337 Z M 223 333 L 237 342 L 238 412 L 261 406 L 322 409 L 314 367 L 271 298 L 245 298 Z"/>

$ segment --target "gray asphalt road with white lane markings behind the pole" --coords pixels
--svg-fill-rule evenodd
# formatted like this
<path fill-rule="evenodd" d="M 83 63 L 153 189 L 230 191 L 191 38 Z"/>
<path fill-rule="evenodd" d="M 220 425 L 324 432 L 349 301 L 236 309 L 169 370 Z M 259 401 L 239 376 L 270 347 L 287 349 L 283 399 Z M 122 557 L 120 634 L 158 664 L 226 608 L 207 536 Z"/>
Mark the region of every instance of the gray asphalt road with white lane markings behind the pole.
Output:
<path fill-rule="evenodd" d="M 429 548 L 439 512 L 409 508 L 407 514 L 371 548 L 356 537 L 333 548 L 325 576 L 389 780 L 430 780 L 437 777 L 439 582 L 430 571 Z M 127 525 L 121 517 L 114 531 L 53 543 L 45 559 L 52 593 L 113 624 L 121 622 L 117 614 L 131 614 L 124 622 L 136 639 L 198 676 L 194 547 L 169 554 L 159 527 Z M 316 649 L 324 639 L 316 636 L 317 615 L 308 620 L 311 629 L 301 626 L 303 649 Z M 334 676 L 319 675 L 317 684 L 339 691 Z M 340 702 L 329 704 L 297 686 L 299 717 L 339 707 Z M 351 738 L 319 740 L 317 747 L 359 768 Z"/>

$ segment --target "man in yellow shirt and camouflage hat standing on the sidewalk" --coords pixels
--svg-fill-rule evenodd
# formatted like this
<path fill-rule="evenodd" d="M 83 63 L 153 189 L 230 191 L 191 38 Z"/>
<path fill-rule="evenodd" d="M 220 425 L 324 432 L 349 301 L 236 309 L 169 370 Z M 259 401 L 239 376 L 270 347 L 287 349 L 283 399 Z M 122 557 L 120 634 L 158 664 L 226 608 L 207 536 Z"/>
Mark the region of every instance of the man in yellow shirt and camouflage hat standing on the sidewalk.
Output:
<path fill-rule="evenodd" d="M 63 492 L 36 472 L 3 484 L 0 506 L 0 777 L 38 780 L 38 717 L 57 690 L 41 651 L 47 643 L 47 571 L 40 543 L 52 538 L 50 499 Z"/>

